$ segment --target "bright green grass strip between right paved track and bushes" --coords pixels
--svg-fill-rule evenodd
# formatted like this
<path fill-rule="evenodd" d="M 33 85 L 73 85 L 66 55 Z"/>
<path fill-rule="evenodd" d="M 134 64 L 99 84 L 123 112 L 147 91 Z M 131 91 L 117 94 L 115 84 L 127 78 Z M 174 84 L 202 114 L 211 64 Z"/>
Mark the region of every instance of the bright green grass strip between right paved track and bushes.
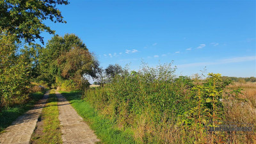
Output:
<path fill-rule="evenodd" d="M 100 143 L 137 143 L 129 129 L 120 131 L 115 128 L 115 123 L 99 115 L 90 104 L 81 100 L 81 92 L 61 92 L 70 101 L 77 113 L 84 118 L 91 129 L 101 140 Z"/>

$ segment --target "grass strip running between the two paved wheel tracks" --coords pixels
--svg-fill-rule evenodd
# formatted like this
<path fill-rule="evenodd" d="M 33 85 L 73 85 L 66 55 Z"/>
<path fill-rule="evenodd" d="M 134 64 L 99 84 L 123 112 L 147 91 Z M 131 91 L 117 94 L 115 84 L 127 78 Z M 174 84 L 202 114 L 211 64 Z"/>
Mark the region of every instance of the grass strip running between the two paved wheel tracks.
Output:
<path fill-rule="evenodd" d="M 30 143 L 62 143 L 59 121 L 58 99 L 51 90 L 47 104 L 42 110 Z"/>

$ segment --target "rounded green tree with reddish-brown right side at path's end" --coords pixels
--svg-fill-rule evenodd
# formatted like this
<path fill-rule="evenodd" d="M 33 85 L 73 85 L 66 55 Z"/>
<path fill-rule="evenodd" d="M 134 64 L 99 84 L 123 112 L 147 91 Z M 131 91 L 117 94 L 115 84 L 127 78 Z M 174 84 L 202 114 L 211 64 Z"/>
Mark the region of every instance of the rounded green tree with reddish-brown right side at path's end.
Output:
<path fill-rule="evenodd" d="M 76 88 L 83 86 L 82 82 L 86 81 L 84 75 L 95 77 L 95 69 L 99 66 L 86 45 L 74 34 L 53 36 L 42 49 L 39 64 L 42 71 L 40 78 L 49 85 L 67 83 Z"/>

